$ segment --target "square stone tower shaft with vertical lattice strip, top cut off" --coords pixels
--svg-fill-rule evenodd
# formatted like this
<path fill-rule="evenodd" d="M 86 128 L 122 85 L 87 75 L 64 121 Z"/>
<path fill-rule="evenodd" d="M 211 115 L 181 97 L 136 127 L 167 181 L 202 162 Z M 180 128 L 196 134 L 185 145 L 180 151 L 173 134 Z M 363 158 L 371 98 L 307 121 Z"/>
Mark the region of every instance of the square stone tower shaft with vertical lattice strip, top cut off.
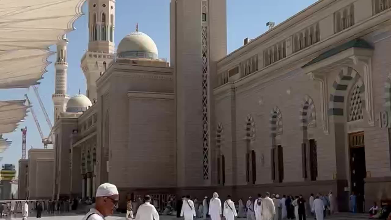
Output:
<path fill-rule="evenodd" d="M 213 82 L 227 54 L 226 0 L 171 0 L 170 63 L 176 75 L 178 186 L 212 179 Z M 190 43 L 189 43 L 190 42 Z M 191 106 L 189 108 L 189 106 Z"/>

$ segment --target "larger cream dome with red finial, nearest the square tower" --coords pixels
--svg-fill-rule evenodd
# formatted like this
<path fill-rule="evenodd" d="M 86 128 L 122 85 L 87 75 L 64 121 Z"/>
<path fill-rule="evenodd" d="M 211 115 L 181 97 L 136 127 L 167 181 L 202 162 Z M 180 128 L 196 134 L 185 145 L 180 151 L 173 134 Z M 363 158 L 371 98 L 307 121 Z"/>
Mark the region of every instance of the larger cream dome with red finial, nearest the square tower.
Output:
<path fill-rule="evenodd" d="M 118 58 L 145 58 L 158 59 L 158 47 L 155 42 L 147 34 L 139 32 L 131 32 L 126 35 L 117 48 Z"/>

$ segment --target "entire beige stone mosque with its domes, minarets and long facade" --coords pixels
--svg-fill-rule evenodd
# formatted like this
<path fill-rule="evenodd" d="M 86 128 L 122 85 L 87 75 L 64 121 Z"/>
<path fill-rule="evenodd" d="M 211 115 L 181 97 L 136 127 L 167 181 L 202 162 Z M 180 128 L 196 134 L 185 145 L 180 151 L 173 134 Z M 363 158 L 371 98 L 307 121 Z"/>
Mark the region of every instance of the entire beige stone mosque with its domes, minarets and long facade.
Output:
<path fill-rule="evenodd" d="M 391 198 L 389 0 L 319 0 L 228 55 L 226 0 L 171 0 L 170 63 L 138 27 L 115 51 L 114 0 L 88 8 L 87 96 L 66 95 L 57 49 L 53 198 L 104 182 L 122 205 L 332 190 L 346 211 L 352 192 L 366 207 Z"/>

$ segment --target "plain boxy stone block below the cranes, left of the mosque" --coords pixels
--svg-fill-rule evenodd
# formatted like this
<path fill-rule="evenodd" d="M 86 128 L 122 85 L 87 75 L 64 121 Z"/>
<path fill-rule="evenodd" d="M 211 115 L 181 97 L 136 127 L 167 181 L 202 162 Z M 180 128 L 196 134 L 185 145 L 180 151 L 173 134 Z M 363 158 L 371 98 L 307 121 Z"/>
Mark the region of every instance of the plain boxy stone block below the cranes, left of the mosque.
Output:
<path fill-rule="evenodd" d="M 29 199 L 52 198 L 54 150 L 30 149 L 28 152 L 28 193 Z M 22 164 L 21 162 L 20 164 Z M 22 164 L 23 165 L 23 164 Z M 23 186 L 23 185 L 22 185 Z M 21 194 L 20 196 L 22 196 Z"/>

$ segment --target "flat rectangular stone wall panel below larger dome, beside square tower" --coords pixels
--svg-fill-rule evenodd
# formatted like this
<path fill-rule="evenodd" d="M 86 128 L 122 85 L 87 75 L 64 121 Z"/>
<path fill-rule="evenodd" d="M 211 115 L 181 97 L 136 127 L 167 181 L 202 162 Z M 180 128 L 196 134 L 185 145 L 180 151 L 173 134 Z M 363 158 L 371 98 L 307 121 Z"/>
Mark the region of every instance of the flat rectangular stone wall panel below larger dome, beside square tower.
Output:
<path fill-rule="evenodd" d="M 176 186 L 174 96 L 167 99 L 129 97 L 126 178 L 120 187 Z"/>

